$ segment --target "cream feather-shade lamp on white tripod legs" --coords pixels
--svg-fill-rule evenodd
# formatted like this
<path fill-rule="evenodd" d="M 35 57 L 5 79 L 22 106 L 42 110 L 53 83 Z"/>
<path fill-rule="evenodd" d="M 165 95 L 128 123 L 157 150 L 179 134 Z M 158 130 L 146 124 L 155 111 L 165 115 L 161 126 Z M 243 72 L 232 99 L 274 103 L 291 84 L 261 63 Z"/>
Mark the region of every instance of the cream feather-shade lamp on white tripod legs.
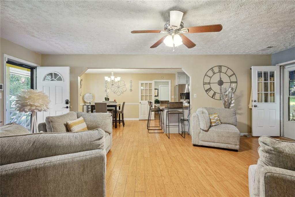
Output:
<path fill-rule="evenodd" d="M 34 128 L 36 128 L 37 133 L 39 132 L 36 112 L 47 111 L 49 109 L 49 104 L 50 99 L 47 94 L 33 89 L 23 90 L 17 95 L 16 100 L 14 101 L 14 105 L 18 112 L 32 112 L 31 133 L 33 133 Z"/>

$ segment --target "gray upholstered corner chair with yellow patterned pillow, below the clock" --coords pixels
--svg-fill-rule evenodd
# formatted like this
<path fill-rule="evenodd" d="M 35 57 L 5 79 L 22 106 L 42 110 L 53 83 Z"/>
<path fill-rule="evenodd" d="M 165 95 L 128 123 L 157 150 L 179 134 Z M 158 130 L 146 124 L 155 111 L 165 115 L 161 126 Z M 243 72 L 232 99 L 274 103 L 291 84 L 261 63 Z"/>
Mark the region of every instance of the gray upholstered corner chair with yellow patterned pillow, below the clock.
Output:
<path fill-rule="evenodd" d="M 222 124 L 210 127 L 209 114 L 217 113 Z M 239 150 L 240 131 L 235 109 L 202 107 L 192 116 L 192 143 Z"/>

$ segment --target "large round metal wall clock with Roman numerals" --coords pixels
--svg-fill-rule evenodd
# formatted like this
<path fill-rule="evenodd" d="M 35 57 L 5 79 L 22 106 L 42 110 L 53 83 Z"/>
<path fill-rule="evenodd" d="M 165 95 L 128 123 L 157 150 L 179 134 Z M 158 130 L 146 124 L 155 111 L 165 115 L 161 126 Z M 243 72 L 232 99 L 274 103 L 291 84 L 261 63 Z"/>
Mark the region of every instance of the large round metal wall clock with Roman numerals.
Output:
<path fill-rule="evenodd" d="M 226 66 L 214 66 L 210 68 L 203 79 L 205 92 L 212 99 L 221 100 L 220 88 L 234 87 L 237 88 L 237 77 L 235 73 Z"/>

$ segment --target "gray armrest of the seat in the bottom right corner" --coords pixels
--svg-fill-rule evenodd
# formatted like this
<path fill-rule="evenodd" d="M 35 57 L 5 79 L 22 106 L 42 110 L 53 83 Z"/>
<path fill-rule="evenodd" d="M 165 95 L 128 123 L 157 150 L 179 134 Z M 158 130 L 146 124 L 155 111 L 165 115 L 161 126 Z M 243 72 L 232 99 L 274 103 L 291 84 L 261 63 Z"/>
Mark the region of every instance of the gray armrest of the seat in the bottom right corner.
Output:
<path fill-rule="evenodd" d="M 295 171 L 266 166 L 259 175 L 259 196 L 293 196 Z"/>

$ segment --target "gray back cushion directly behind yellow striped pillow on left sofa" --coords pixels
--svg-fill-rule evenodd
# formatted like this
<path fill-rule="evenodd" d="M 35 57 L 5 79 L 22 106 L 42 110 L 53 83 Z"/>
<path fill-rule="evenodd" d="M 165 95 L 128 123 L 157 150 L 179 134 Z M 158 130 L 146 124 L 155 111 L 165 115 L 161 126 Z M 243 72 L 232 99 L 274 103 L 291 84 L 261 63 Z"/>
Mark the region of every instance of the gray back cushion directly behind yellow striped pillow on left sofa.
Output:
<path fill-rule="evenodd" d="M 48 116 L 45 119 L 47 132 L 68 132 L 67 121 L 76 120 L 77 112 L 68 112 L 59 116 Z"/>

